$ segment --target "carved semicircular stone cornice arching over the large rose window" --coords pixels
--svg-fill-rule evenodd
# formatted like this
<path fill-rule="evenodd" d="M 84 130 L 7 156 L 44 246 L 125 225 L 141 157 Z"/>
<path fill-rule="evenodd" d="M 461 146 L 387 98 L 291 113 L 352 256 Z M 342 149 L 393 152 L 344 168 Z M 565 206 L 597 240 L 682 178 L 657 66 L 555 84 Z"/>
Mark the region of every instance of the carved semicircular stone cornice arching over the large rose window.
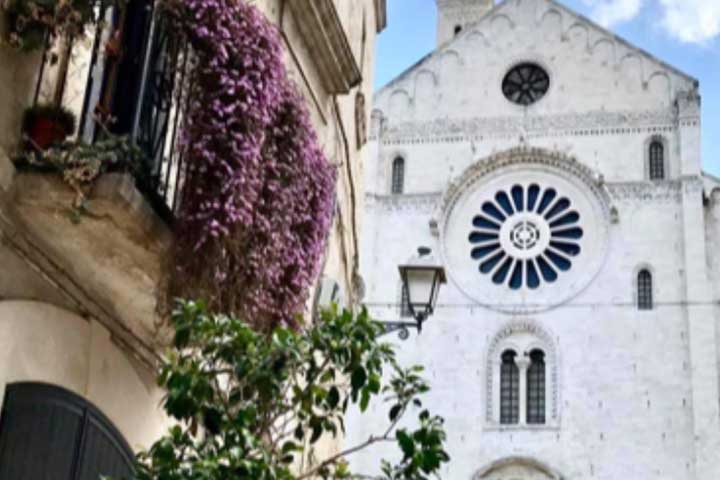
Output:
<path fill-rule="evenodd" d="M 604 186 L 602 175 L 562 152 L 522 145 L 480 159 L 450 182 L 438 205 L 434 219 L 442 225 L 452 213 L 462 194 L 475 182 L 497 170 L 515 165 L 537 165 L 579 179 L 598 200 L 605 219 L 610 219 L 610 196 Z"/>

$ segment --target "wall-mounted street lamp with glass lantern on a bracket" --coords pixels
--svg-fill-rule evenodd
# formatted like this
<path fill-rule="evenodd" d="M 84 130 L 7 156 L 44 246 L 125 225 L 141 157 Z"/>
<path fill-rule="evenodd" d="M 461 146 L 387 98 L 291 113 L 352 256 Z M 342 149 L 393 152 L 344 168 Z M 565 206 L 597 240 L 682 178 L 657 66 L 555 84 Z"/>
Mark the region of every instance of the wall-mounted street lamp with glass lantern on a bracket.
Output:
<path fill-rule="evenodd" d="M 425 320 L 435 311 L 440 285 L 447 282 L 445 269 L 432 255 L 428 247 L 418 248 L 417 255 L 398 267 L 403 292 L 407 294 L 408 307 L 414 322 L 383 322 L 385 333 L 399 331 L 402 340 L 410 336 L 408 328 L 422 332 Z"/>

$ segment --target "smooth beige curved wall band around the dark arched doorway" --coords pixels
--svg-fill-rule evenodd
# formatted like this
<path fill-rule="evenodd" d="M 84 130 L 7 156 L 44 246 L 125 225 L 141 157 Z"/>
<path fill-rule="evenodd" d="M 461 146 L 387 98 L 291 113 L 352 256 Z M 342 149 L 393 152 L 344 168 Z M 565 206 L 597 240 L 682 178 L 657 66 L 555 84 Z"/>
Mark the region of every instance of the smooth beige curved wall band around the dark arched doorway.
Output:
<path fill-rule="evenodd" d="M 118 348 L 98 323 L 46 303 L 2 301 L 0 398 L 9 383 L 24 381 L 83 396 L 136 450 L 149 446 L 168 425 L 154 374 Z"/>

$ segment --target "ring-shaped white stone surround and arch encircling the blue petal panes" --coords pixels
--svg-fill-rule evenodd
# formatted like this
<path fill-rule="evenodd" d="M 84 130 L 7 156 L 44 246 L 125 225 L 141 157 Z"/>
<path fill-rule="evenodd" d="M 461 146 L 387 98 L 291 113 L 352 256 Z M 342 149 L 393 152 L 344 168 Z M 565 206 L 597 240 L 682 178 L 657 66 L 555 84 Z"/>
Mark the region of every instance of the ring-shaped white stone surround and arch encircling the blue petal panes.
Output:
<path fill-rule="evenodd" d="M 503 281 L 480 281 L 477 265 L 468 262 L 466 251 L 469 224 L 480 205 L 502 185 L 529 181 L 561 189 L 572 199 L 583 223 L 583 253 L 574 256 L 572 269 L 552 279 L 553 288 L 542 293 L 510 288 Z M 517 315 L 557 308 L 592 283 L 609 252 L 611 207 L 611 198 L 596 172 L 564 153 L 520 146 L 468 167 L 450 182 L 431 219 L 438 225 L 442 262 L 457 289 L 478 305 Z"/>

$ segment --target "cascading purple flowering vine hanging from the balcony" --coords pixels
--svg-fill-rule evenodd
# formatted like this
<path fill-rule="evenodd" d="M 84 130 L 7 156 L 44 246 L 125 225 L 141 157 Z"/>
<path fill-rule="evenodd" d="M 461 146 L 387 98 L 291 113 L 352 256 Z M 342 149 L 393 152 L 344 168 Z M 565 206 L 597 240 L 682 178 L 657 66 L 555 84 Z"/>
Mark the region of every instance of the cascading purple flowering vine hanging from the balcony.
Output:
<path fill-rule="evenodd" d="M 243 0 L 168 0 L 194 53 L 170 292 L 261 329 L 295 325 L 332 223 L 335 169 L 279 33 Z"/>

